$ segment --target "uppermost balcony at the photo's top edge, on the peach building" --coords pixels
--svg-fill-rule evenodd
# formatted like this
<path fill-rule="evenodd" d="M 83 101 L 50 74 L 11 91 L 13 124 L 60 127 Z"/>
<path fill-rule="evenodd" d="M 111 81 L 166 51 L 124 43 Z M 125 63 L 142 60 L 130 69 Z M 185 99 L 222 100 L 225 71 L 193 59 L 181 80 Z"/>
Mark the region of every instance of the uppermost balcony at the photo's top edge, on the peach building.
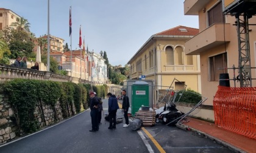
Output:
<path fill-rule="evenodd" d="M 185 0 L 184 15 L 198 15 L 210 0 Z"/>

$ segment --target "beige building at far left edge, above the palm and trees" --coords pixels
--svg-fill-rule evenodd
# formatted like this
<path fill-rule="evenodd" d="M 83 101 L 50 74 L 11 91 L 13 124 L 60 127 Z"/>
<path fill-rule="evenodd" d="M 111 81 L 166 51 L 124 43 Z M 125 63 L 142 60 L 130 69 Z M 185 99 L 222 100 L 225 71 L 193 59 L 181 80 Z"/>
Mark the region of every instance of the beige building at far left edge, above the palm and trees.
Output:
<path fill-rule="evenodd" d="M 12 10 L 0 8 L 0 30 L 5 27 L 10 27 L 12 22 L 17 22 L 21 19 L 19 15 L 12 12 Z"/>

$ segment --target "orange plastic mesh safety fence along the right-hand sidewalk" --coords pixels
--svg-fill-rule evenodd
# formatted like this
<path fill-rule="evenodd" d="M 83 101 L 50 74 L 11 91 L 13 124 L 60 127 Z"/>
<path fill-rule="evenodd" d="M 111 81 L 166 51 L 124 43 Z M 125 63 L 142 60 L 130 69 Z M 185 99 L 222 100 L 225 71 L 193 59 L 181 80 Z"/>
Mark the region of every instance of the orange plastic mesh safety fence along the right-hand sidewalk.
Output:
<path fill-rule="evenodd" d="M 213 109 L 216 125 L 256 139 L 256 87 L 218 86 Z"/>

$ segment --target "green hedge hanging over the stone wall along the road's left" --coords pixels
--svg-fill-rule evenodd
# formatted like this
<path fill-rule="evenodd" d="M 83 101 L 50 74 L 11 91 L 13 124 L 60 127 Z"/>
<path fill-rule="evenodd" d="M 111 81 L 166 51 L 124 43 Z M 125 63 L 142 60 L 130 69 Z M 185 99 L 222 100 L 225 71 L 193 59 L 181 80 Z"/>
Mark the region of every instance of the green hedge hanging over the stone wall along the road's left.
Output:
<path fill-rule="evenodd" d="M 87 108 L 87 89 L 82 84 L 57 83 L 54 81 L 38 81 L 15 79 L 1 84 L 1 91 L 7 97 L 7 102 L 13 110 L 12 120 L 18 127 L 18 134 L 29 133 L 40 129 L 40 124 L 35 118 L 35 108 L 43 110 L 43 104 L 49 105 L 54 110 L 57 121 L 55 104 L 60 101 L 63 118 L 79 113 L 81 106 Z M 73 106 L 75 108 L 73 108 Z M 71 114 L 68 110 L 71 110 Z M 44 115 L 42 119 L 45 124 Z"/>

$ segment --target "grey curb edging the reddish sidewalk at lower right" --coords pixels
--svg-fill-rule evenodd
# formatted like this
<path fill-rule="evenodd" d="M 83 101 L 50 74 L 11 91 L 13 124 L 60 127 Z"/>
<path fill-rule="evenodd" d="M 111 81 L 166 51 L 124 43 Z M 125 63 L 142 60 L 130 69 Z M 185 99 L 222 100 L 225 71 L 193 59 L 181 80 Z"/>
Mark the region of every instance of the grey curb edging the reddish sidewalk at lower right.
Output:
<path fill-rule="evenodd" d="M 185 124 L 176 124 L 176 126 L 179 127 L 180 129 L 188 130 L 187 129 L 188 126 L 185 125 Z M 197 129 L 194 129 L 193 127 L 189 127 L 189 128 L 190 128 L 190 131 L 196 132 L 198 135 L 202 135 L 202 136 L 204 136 L 204 137 L 206 137 L 206 138 L 208 138 L 210 140 L 216 141 L 216 143 L 219 143 L 222 146 L 225 146 L 225 147 L 229 148 L 231 151 L 234 151 L 236 153 L 246 153 L 246 151 L 243 151 L 242 149 L 237 148 L 236 146 L 233 146 L 232 144 L 229 144 L 226 141 L 223 141 L 223 140 L 221 140 L 219 138 L 213 137 L 212 135 L 206 134 L 205 132 L 202 132 L 202 131 L 199 131 Z"/>

